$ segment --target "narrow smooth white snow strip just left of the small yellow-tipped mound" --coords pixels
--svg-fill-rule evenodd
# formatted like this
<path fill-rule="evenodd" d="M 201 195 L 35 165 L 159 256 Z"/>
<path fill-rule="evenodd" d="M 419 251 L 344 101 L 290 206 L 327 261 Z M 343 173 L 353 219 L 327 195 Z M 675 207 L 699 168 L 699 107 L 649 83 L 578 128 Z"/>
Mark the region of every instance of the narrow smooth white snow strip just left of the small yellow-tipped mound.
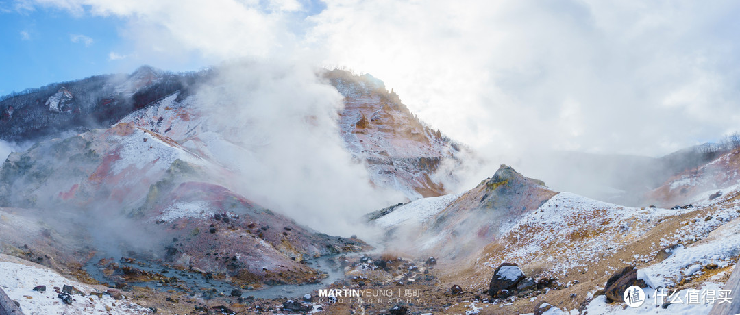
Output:
<path fill-rule="evenodd" d="M 414 200 L 391 211 L 391 213 L 377 218 L 375 224 L 388 228 L 400 223 L 422 223 L 435 214 L 443 211 L 462 194 L 445 194 L 440 197 L 428 197 Z"/>

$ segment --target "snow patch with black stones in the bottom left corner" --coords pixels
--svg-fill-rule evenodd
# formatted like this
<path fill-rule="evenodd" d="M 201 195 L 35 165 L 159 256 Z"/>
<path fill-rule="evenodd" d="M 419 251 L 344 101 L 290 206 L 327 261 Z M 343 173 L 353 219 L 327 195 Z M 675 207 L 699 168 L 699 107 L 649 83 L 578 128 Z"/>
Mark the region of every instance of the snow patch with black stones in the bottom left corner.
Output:
<path fill-rule="evenodd" d="M 37 285 L 46 285 L 47 290 L 33 291 Z M 74 294 L 72 305 L 66 305 L 54 291 L 54 287 L 62 288 L 64 285 L 72 285 L 86 296 Z M 27 315 L 151 313 L 140 305 L 118 301 L 107 295 L 102 297 L 87 295 L 93 291 L 101 292 L 104 288 L 98 289 L 92 285 L 69 280 L 49 268 L 7 255 L 0 255 L 0 287 L 10 299 L 21 304 L 21 311 Z M 106 305 L 111 311 L 105 310 Z"/>

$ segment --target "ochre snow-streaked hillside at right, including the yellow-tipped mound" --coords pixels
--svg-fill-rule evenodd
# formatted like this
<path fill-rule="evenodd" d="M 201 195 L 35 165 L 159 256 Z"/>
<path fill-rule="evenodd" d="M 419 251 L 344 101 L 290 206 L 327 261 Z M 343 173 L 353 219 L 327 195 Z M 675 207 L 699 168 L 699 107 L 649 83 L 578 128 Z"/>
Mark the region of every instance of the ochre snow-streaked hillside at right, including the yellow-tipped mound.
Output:
<path fill-rule="evenodd" d="M 736 155 L 721 156 L 699 174 L 727 172 Z M 637 278 L 630 281 L 644 280 L 639 283 L 650 297 L 659 288 L 680 294 L 721 288 L 740 252 L 734 220 L 740 216 L 740 188 L 722 192 L 719 197 L 693 194 L 687 199 L 692 206 L 684 208 L 634 208 L 552 192 L 502 166 L 468 192 L 386 209 L 371 216 L 371 223 L 384 228 L 388 245 L 400 251 L 442 256 L 440 287 L 459 285 L 462 291 L 462 297 L 445 300 L 450 313 L 476 308 L 481 314 L 523 314 L 546 307 L 554 314 L 676 314 L 684 309 L 700 314 L 712 305 L 659 308 L 648 301 L 640 309 L 624 309 L 621 300 L 609 304 L 610 290 L 616 288 L 605 283 L 636 268 Z M 522 277 L 501 286 L 496 274 L 507 265 Z"/>

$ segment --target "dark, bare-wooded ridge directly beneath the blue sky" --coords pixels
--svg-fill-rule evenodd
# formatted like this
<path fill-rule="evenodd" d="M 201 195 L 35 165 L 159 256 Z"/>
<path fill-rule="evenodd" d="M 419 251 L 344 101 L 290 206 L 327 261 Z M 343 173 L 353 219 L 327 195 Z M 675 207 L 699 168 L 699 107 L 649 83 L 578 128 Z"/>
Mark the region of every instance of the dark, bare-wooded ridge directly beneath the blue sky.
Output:
<path fill-rule="evenodd" d="M 0 139 L 24 142 L 110 127 L 166 95 L 184 91 L 201 75 L 140 67 L 130 75 L 97 75 L 49 84 L 0 98 Z"/>

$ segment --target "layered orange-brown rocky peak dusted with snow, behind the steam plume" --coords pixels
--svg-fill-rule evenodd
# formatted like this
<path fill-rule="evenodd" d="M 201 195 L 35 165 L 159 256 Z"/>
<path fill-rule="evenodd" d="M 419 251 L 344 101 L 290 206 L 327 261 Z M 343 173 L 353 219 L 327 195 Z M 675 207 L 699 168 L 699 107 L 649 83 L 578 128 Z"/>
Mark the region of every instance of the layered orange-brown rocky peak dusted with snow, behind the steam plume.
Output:
<path fill-rule="evenodd" d="M 383 81 L 371 75 L 326 72 L 344 96 L 341 136 L 354 158 L 366 162 L 373 183 L 415 200 L 445 194 L 435 174 L 443 160 L 456 160 L 461 145 L 425 126 Z"/>

